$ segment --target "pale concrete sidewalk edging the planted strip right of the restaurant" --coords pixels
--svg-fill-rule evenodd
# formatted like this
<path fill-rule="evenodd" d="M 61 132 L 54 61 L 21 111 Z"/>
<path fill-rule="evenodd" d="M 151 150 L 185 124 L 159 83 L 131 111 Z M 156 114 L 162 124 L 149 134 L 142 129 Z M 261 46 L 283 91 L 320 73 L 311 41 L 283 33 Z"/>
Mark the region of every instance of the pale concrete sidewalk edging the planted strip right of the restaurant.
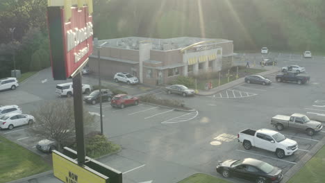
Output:
<path fill-rule="evenodd" d="M 270 69 L 269 71 L 265 71 L 263 73 L 258 73 L 262 76 L 268 76 L 268 75 L 271 75 L 273 73 L 277 73 L 279 72 L 280 69 L 279 68 L 274 68 L 274 69 Z M 224 85 L 221 85 L 219 87 L 215 87 L 213 89 L 210 89 L 208 91 L 203 91 L 203 90 L 199 90 L 199 92 L 197 93 L 197 95 L 200 95 L 200 96 L 209 96 L 209 95 L 213 95 L 213 94 L 217 94 L 219 92 L 222 92 L 226 89 L 229 89 L 231 87 L 235 87 L 237 85 L 241 85 L 242 83 L 244 83 L 244 78 L 239 78 L 238 80 L 234 80 L 234 81 L 231 81 L 231 82 L 228 82 Z"/>

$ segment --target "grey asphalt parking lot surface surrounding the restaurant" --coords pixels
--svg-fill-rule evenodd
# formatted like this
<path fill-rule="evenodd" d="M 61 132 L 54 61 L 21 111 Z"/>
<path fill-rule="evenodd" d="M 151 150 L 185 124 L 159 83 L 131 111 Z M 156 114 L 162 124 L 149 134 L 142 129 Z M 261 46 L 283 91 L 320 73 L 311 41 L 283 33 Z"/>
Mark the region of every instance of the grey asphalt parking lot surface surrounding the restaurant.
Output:
<path fill-rule="evenodd" d="M 177 182 L 198 172 L 220 177 L 215 171 L 218 161 L 246 157 L 263 160 L 282 168 L 284 173 L 287 172 L 325 137 L 324 129 L 313 137 L 294 130 L 281 131 L 289 139 L 297 141 L 299 146 L 294 155 L 284 159 L 278 159 L 274 153 L 258 148 L 245 150 L 237 140 L 238 132 L 247 128 L 276 130 L 270 121 L 272 116 L 277 114 L 291 115 L 299 112 L 307 114 L 310 119 L 325 119 L 324 58 L 315 56 L 305 60 L 301 59 L 301 55 L 290 56 L 284 53 L 278 55 L 278 58 L 281 60 L 276 67 L 288 64 L 306 67 L 310 83 L 297 85 L 276 82 L 276 74 L 273 74 L 267 76 L 272 80 L 272 85 L 269 86 L 243 83 L 211 96 L 186 98 L 166 94 L 162 89 L 140 89 L 141 85 L 115 84 L 116 87 L 129 87 L 124 89 L 128 89 L 129 93 L 135 96 L 149 93 L 158 98 L 177 99 L 195 110 L 183 112 L 144 103 L 118 109 L 111 107 L 110 103 L 103 103 L 104 133 L 111 141 L 119 143 L 122 151 L 99 159 L 100 162 L 124 172 L 124 182 Z M 36 85 L 36 82 L 42 79 L 44 78 L 28 82 L 31 82 L 31 85 L 35 82 L 36 87 L 40 85 Z M 94 84 L 97 82 L 92 78 L 85 78 L 83 81 Z M 56 81 L 49 80 L 38 87 L 49 87 L 47 83 L 54 87 L 56 85 Z M 23 84 L 14 92 L 20 92 L 20 97 L 24 97 L 24 94 L 38 96 L 19 104 L 23 112 L 29 112 L 35 109 L 40 101 L 56 99 L 53 96 L 54 90 L 51 91 L 52 93 L 36 94 L 32 87 Z M 11 93 L 3 92 L 0 97 L 6 98 L 7 94 Z M 84 106 L 91 114 L 97 116 L 94 129 L 99 130 L 99 104 Z M 0 134 L 33 150 L 40 138 L 28 134 L 26 128 L 28 126 L 12 131 L 1 130 Z M 233 178 L 231 181 L 242 182 Z"/>

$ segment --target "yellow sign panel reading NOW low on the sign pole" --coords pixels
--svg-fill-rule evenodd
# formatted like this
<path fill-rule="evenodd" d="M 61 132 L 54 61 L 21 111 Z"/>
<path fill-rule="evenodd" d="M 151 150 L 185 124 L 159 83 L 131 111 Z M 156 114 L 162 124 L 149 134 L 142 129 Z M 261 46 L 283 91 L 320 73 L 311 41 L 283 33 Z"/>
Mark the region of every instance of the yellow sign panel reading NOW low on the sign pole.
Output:
<path fill-rule="evenodd" d="M 88 166 L 78 166 L 76 160 L 57 151 L 52 153 L 53 174 L 66 183 L 106 183 L 108 177 Z"/>

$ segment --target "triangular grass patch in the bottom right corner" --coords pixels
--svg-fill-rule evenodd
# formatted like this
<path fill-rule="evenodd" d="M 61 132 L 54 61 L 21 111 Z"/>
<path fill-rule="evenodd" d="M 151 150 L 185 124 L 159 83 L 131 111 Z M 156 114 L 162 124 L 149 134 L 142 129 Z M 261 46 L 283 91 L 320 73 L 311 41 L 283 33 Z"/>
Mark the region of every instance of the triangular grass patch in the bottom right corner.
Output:
<path fill-rule="evenodd" d="M 325 146 L 296 173 L 288 183 L 321 183 L 325 181 Z"/>

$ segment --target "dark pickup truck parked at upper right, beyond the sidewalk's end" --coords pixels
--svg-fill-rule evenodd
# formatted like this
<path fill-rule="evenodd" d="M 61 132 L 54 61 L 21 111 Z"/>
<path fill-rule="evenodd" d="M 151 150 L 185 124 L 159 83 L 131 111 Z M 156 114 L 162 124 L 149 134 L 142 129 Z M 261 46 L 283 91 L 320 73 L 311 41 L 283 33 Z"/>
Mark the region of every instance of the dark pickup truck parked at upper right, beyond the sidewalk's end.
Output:
<path fill-rule="evenodd" d="M 278 73 L 276 74 L 277 82 L 297 82 L 299 85 L 309 82 L 310 76 L 306 73 Z"/>

